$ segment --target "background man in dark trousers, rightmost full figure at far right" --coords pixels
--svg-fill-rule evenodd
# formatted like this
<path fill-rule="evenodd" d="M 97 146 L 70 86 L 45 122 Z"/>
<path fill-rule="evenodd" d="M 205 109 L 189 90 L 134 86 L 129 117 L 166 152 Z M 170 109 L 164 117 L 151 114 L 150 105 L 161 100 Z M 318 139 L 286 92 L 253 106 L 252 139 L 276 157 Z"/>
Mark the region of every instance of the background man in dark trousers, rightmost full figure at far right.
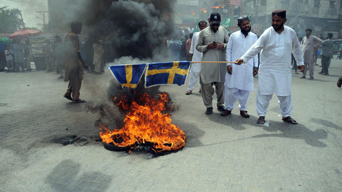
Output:
<path fill-rule="evenodd" d="M 320 43 L 320 45 L 322 46 L 322 52 L 320 53 L 322 57 L 321 59 L 322 70 L 319 72 L 319 74 L 322 74 L 322 75 L 329 75 L 328 68 L 330 66 L 330 61 L 331 61 L 331 58 L 333 57 L 333 50 L 334 50 L 334 42 L 332 38 L 333 38 L 333 34 L 328 33 L 327 40 Z"/>

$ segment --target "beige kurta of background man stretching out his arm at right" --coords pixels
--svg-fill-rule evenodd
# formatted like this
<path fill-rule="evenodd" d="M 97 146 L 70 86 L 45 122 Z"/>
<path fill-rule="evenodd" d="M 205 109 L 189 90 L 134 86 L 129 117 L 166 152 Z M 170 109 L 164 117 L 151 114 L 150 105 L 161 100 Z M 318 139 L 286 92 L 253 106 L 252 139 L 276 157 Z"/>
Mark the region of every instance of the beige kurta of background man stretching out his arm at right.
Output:
<path fill-rule="evenodd" d="M 311 64 L 314 62 L 314 46 L 315 42 L 321 43 L 322 40 L 316 36 L 310 35 L 309 37 L 304 37 L 300 42 L 303 49 L 304 63 Z"/>

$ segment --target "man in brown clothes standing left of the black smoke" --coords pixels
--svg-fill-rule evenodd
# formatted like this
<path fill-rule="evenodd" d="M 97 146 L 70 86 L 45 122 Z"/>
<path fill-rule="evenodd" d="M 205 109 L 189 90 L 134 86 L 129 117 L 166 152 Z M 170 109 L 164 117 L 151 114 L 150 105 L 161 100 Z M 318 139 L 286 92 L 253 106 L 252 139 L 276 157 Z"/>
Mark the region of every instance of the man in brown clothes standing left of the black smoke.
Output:
<path fill-rule="evenodd" d="M 82 23 L 74 21 L 71 23 L 71 32 L 65 37 L 65 76 L 64 81 L 69 82 L 68 90 L 64 97 L 73 103 L 85 103 L 80 99 L 80 89 L 83 79 L 82 67 L 88 69 L 83 61 L 80 51 L 79 33 L 82 30 Z"/>

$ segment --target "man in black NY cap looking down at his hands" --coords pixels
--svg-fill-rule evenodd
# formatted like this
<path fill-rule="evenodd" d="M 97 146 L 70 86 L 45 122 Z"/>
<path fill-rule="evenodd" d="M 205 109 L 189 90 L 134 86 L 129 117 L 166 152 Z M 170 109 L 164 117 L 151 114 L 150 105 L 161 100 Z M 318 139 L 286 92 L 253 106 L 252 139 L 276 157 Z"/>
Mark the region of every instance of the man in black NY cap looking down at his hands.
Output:
<path fill-rule="evenodd" d="M 228 43 L 227 30 L 220 26 L 219 13 L 211 13 L 209 27 L 203 29 L 198 37 L 196 49 L 203 52 L 202 61 L 226 61 L 225 50 Z M 217 109 L 224 111 L 224 83 L 226 76 L 226 64 L 201 64 L 202 99 L 206 107 L 205 114 L 212 113 L 212 95 L 216 92 Z M 213 88 L 215 85 L 215 89 Z"/>

